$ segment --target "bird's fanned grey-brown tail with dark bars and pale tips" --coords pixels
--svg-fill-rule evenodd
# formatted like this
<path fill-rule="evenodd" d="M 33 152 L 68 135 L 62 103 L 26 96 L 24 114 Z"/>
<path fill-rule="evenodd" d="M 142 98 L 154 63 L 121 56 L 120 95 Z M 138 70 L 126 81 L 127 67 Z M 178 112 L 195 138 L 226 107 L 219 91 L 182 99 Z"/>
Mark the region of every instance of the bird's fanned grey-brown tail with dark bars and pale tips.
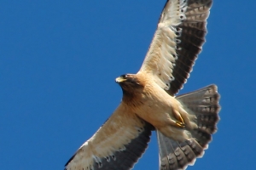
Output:
<path fill-rule="evenodd" d="M 217 131 L 219 97 L 215 85 L 177 96 L 176 99 L 188 112 L 190 121 L 195 122 L 197 127 L 185 129 L 191 138 L 183 142 L 167 138 L 157 131 L 161 170 L 185 169 L 188 165 L 193 165 L 197 157 L 204 155 L 204 150 L 212 140 L 212 133 Z"/>

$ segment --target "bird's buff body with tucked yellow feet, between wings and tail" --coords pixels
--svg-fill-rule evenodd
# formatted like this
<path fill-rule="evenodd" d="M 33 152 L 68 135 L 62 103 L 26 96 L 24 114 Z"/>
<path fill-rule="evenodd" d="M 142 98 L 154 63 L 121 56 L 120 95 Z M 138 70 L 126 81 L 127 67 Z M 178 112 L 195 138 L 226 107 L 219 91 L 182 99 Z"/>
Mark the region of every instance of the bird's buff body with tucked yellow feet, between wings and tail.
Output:
<path fill-rule="evenodd" d="M 129 112 L 149 122 L 156 129 L 160 130 L 161 133 L 166 134 L 166 136 L 178 139 L 179 141 L 188 139 L 185 137 L 185 134 L 183 134 L 182 138 L 176 134 L 181 133 L 180 129 L 183 129 L 183 123 L 186 124 L 186 127 L 196 127 L 196 124 L 189 120 L 190 118 L 195 119 L 195 117 L 189 116 L 183 110 L 183 105 L 175 97 L 167 94 L 163 88 L 160 88 L 150 78 L 145 77 L 144 74 L 138 72 L 137 75 L 128 75 L 127 77 L 140 80 L 140 82 L 137 82 L 138 85 L 136 82 L 135 85 L 141 88 L 132 89 L 132 86 L 129 87 L 133 94 L 125 95 L 124 93 L 120 105 L 126 105 L 130 110 Z"/>

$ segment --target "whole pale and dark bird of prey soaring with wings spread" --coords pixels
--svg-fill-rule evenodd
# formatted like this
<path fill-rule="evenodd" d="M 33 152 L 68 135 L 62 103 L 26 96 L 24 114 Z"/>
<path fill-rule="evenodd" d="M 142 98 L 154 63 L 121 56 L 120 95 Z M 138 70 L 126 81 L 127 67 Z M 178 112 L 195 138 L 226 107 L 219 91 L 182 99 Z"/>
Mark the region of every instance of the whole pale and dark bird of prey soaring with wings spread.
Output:
<path fill-rule="evenodd" d="M 131 169 L 156 131 L 160 169 L 185 169 L 217 130 L 219 94 L 209 85 L 177 95 L 207 34 L 212 0 L 168 0 L 137 74 L 116 78 L 119 106 L 67 161 L 65 170 Z"/>

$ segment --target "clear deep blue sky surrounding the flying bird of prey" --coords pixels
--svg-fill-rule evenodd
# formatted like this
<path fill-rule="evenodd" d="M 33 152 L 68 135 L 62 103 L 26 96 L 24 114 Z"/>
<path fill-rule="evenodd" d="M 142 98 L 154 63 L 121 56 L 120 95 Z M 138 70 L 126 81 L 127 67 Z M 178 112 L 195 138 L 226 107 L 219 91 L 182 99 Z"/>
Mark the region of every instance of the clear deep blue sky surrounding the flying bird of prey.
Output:
<path fill-rule="evenodd" d="M 63 169 L 119 105 L 115 77 L 142 65 L 165 0 L 0 3 L 0 167 Z M 207 43 L 181 93 L 218 85 L 221 121 L 189 169 L 253 169 L 253 1 L 214 1 Z M 158 169 L 155 134 L 136 170 Z"/>

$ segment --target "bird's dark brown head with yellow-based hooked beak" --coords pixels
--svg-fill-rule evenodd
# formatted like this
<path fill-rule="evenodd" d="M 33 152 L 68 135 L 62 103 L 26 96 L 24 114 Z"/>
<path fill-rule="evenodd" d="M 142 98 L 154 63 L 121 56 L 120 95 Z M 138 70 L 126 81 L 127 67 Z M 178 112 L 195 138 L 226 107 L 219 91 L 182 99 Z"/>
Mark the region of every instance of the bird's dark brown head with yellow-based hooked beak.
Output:
<path fill-rule="evenodd" d="M 125 74 L 117 77 L 115 82 L 119 83 L 124 95 L 139 93 L 143 89 L 142 81 L 134 74 Z"/>

